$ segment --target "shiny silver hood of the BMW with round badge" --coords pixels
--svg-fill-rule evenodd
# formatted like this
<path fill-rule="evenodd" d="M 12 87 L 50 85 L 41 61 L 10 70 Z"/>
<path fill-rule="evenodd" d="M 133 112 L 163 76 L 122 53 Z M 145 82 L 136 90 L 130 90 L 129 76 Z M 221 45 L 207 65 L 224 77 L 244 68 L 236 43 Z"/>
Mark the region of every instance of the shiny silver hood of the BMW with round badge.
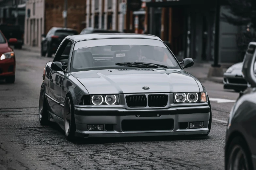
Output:
<path fill-rule="evenodd" d="M 117 69 L 72 73 L 89 94 L 199 92 L 199 86 L 187 72 L 179 69 Z M 149 90 L 143 90 L 147 86 Z"/>

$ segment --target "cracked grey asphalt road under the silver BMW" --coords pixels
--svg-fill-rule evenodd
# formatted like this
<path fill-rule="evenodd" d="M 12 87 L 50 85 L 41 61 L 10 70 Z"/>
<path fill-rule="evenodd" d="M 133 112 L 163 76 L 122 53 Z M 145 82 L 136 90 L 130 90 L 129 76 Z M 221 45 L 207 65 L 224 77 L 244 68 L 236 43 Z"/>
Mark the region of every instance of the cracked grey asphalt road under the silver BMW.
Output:
<path fill-rule="evenodd" d="M 203 82 L 213 98 L 206 137 L 128 137 L 66 140 L 56 125 L 41 126 L 43 68 L 52 58 L 16 50 L 16 81 L 0 81 L 0 169 L 224 169 L 226 121 L 238 93 Z M 196 76 L 196 75 L 195 75 Z M 223 102 L 223 100 L 222 100 Z M 225 102 L 225 100 L 224 100 Z"/>

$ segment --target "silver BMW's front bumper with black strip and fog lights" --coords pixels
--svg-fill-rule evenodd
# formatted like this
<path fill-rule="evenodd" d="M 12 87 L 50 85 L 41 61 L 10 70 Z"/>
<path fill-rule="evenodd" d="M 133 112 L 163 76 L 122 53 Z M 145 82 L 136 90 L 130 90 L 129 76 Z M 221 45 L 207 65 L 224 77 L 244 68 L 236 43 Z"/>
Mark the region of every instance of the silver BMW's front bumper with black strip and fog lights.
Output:
<path fill-rule="evenodd" d="M 138 116 L 139 115 L 139 116 Z M 156 116 L 158 115 L 158 116 Z M 165 109 L 124 109 L 124 108 L 74 108 L 76 136 L 79 137 L 121 137 L 121 136 L 159 136 L 159 135 L 200 135 L 208 134 L 210 119 L 209 106 L 170 107 Z M 166 122 L 171 124 L 168 130 L 124 130 L 126 122 Z M 181 127 L 181 123 L 188 123 Z M 202 128 L 189 129 L 189 122 L 204 122 Z M 103 131 L 88 131 L 87 124 L 103 124 Z M 113 129 L 106 130 L 105 125 Z M 136 124 L 128 124 L 136 126 Z M 127 128 L 127 123 L 126 127 Z M 129 129 L 129 127 L 128 127 Z"/>

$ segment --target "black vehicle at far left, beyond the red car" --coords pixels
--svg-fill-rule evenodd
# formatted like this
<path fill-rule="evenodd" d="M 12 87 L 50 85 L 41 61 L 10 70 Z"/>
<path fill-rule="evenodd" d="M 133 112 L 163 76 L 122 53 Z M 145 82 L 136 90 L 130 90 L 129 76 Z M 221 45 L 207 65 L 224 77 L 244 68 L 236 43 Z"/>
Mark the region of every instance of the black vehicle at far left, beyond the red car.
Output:
<path fill-rule="evenodd" d="M 24 30 L 19 25 L 0 24 L 0 30 L 8 40 L 9 45 L 13 45 L 15 49 L 22 49 L 24 45 Z M 17 41 L 9 42 L 10 38 L 16 38 Z"/>

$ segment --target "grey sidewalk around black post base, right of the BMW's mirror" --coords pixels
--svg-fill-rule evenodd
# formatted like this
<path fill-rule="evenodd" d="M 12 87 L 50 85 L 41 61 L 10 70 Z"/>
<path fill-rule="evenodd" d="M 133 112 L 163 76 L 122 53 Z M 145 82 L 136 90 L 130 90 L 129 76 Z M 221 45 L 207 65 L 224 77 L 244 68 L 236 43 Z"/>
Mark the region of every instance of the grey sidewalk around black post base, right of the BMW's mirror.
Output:
<path fill-rule="evenodd" d="M 221 63 L 220 63 L 221 64 Z M 221 64 L 222 65 L 222 64 Z M 195 76 L 200 81 L 210 80 L 216 83 L 223 83 L 223 77 L 211 77 L 207 78 L 207 74 L 211 64 L 194 64 L 192 67 L 185 68 L 184 70 L 193 76 Z M 223 73 L 228 69 L 229 65 L 223 65 Z"/>

